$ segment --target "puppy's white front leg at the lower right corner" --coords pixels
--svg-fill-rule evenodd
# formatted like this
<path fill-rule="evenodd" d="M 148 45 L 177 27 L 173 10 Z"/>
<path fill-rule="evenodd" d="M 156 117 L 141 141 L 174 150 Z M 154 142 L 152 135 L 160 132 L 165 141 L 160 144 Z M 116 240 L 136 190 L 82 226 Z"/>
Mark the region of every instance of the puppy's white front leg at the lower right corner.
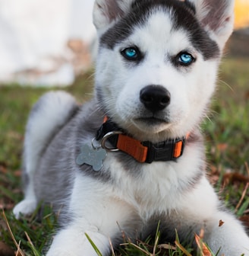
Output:
<path fill-rule="evenodd" d="M 185 201 L 185 222 L 191 221 L 204 229 L 204 242 L 215 254 L 219 251 L 218 255 L 249 256 L 249 237 L 243 226 L 231 213 L 220 210 L 219 200 L 206 178 Z"/>

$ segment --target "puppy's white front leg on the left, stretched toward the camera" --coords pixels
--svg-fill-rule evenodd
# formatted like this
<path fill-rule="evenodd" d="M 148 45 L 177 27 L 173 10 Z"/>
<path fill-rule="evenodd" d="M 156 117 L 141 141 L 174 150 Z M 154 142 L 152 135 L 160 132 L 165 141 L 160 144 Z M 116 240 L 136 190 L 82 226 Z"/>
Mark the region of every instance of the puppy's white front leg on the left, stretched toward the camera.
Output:
<path fill-rule="evenodd" d="M 72 194 L 72 220 L 55 235 L 46 256 L 96 256 L 86 233 L 103 256 L 109 255 L 109 239 L 113 245 L 122 242 L 121 230 L 131 238 L 136 237 L 136 230 L 142 225 L 140 216 L 130 204 L 115 197 L 117 192 L 112 194 L 108 186 L 94 184 L 87 178 L 78 185 L 81 191 L 76 184 Z"/>

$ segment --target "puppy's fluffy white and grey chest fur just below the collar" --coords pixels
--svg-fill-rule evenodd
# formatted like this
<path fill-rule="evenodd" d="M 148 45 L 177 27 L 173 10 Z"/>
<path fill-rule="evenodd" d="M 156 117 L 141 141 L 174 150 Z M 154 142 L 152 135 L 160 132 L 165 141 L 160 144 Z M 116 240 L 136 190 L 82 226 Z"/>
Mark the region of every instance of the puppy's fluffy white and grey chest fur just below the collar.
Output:
<path fill-rule="evenodd" d="M 89 146 L 90 140 L 87 142 L 83 144 Z M 93 158 L 102 163 L 100 168 L 95 165 L 93 168 L 94 161 L 78 162 L 77 166 L 93 183 L 103 187 L 105 197 L 124 200 L 147 217 L 155 209 L 165 212 L 181 207 L 184 194 L 200 181 L 203 161 L 198 150 L 188 148 L 177 161 L 140 163 L 124 152 L 106 152 L 101 161 L 97 156 Z"/>

